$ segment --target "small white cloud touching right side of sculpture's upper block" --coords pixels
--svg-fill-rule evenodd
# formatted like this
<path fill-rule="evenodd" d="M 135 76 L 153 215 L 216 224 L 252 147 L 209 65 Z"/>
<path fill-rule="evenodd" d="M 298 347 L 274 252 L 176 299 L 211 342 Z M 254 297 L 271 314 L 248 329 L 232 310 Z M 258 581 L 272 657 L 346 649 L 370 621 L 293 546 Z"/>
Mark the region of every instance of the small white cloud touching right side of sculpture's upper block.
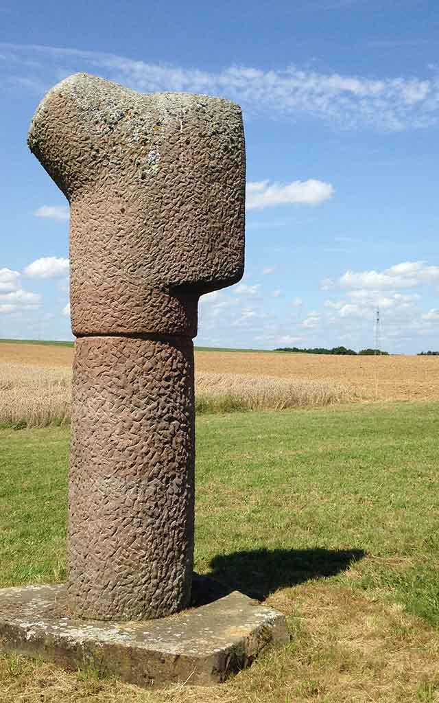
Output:
<path fill-rule="evenodd" d="M 308 179 L 292 183 L 258 181 L 247 183 L 247 209 L 263 209 L 276 205 L 320 205 L 332 198 L 334 188 L 330 183 Z"/>

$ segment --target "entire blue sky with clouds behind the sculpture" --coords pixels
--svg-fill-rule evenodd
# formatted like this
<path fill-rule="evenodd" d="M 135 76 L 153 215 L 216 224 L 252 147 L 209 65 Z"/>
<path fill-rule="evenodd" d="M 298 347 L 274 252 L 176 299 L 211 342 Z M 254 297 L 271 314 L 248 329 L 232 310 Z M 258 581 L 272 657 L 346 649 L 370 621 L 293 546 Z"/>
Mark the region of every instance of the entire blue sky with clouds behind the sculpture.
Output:
<path fill-rule="evenodd" d="M 242 105 L 246 273 L 197 344 L 439 349 L 439 5 L 424 0 L 0 5 L 0 337 L 70 339 L 68 209 L 27 149 L 77 71 Z"/>

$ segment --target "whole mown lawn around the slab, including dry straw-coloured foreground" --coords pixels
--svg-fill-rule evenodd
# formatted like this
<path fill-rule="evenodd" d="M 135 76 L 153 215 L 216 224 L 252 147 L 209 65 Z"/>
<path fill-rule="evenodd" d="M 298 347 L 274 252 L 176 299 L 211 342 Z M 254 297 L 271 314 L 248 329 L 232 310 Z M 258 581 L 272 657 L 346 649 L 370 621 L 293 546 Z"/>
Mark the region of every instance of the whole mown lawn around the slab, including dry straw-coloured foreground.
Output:
<path fill-rule="evenodd" d="M 228 683 L 140 690 L 0 655 L 0 702 L 439 700 L 438 403 L 204 415 L 195 568 L 283 610 Z M 0 586 L 65 576 L 69 431 L 0 432 Z"/>

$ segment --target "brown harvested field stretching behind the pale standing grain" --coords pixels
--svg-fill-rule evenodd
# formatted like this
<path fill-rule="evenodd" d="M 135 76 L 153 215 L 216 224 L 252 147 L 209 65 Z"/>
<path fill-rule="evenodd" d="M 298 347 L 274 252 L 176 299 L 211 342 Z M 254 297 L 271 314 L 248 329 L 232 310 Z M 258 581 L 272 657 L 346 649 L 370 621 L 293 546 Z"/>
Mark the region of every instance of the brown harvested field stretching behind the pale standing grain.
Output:
<path fill-rule="evenodd" d="M 72 347 L 0 344 L 0 362 L 70 366 Z M 381 400 L 439 399 L 439 357 L 195 352 L 199 372 L 337 382 Z"/>

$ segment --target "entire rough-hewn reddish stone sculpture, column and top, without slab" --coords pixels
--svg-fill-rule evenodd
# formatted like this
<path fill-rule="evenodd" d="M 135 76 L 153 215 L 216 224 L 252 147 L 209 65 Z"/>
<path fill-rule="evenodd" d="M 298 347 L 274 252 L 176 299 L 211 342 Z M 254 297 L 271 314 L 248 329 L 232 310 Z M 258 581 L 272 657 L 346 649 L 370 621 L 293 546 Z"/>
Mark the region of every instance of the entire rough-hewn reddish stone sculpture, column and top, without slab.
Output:
<path fill-rule="evenodd" d="M 244 267 L 241 111 L 77 74 L 28 143 L 70 202 L 69 605 L 162 617 L 190 599 L 197 303 Z"/>

